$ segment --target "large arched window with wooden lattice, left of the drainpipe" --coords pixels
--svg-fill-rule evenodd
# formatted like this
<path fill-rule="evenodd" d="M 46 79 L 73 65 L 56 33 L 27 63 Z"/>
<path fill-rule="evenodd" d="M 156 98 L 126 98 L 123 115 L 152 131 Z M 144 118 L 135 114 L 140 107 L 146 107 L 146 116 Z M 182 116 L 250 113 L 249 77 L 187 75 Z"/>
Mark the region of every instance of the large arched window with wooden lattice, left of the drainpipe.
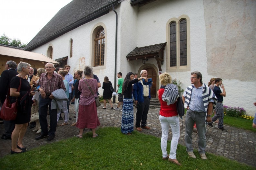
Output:
<path fill-rule="evenodd" d="M 105 32 L 101 27 L 95 34 L 94 39 L 94 67 L 104 65 L 105 55 Z"/>

